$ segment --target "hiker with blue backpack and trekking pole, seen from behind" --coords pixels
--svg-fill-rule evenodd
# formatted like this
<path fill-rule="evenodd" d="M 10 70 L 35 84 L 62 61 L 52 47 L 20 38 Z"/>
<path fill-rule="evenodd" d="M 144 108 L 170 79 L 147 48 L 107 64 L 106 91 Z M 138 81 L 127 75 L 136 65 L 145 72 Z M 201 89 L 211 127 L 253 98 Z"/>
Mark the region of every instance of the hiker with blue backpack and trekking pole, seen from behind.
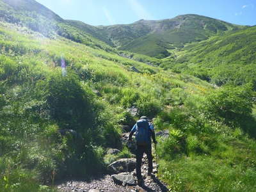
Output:
<path fill-rule="evenodd" d="M 147 116 L 141 116 L 140 120 L 132 127 L 129 134 L 129 141 L 132 140 L 132 134 L 136 132 L 136 174 L 138 179 L 138 185 L 140 186 L 143 182 L 141 177 L 141 161 L 143 154 L 147 154 L 148 158 L 148 175 L 151 176 L 153 171 L 152 162 L 152 149 L 151 149 L 151 137 L 156 142 L 156 135 L 154 132 L 154 125 L 148 122 Z"/>

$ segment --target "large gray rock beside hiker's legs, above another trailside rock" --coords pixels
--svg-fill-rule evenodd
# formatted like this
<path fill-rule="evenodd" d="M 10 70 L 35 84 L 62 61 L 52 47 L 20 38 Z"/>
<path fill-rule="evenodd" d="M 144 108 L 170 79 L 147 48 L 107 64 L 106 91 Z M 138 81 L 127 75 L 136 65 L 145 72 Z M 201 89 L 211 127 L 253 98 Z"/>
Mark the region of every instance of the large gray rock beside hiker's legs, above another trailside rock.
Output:
<path fill-rule="evenodd" d="M 108 170 L 112 173 L 132 172 L 136 167 L 135 158 L 120 159 L 109 164 Z"/>

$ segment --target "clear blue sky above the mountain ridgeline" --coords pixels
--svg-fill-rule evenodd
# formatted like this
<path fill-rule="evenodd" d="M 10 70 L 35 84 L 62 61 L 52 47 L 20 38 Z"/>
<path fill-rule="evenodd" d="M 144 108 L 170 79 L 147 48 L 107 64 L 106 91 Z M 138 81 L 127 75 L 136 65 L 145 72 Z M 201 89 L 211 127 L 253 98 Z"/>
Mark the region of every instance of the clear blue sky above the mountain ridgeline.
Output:
<path fill-rule="evenodd" d="M 93 26 L 171 19 L 194 13 L 233 24 L 256 25 L 256 0 L 36 0 L 63 19 Z"/>

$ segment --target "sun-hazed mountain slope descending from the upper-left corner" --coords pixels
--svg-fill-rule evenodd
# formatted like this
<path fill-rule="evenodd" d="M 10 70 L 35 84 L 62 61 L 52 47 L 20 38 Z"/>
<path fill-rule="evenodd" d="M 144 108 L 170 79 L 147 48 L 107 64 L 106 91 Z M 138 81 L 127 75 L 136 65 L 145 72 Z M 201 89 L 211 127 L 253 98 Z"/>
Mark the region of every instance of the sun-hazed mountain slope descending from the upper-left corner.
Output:
<path fill-rule="evenodd" d="M 91 47 L 113 51 L 109 45 L 68 24 L 68 21 L 35 0 L 0 0 L 0 17 L 6 22 L 26 26 L 47 37 L 56 38 L 56 35 L 60 35 Z"/>

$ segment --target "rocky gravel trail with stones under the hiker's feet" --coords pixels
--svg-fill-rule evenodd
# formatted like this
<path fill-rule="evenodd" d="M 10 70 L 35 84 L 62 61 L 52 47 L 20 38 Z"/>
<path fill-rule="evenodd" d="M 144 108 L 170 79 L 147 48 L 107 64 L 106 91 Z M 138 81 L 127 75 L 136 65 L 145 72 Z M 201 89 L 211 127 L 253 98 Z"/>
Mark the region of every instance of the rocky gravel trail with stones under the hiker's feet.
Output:
<path fill-rule="evenodd" d="M 129 133 L 122 135 L 123 142 L 127 141 Z M 134 143 L 128 145 L 129 148 L 134 147 Z M 112 150 L 116 152 L 116 150 Z M 57 188 L 60 192 L 105 192 L 105 191 L 168 191 L 166 185 L 156 177 L 156 161 L 154 160 L 154 170 L 151 176 L 147 175 L 148 161 L 144 154 L 142 159 L 141 173 L 143 175 L 143 186 L 137 185 L 136 180 L 136 159 L 127 158 L 119 159 L 108 166 L 109 175 L 92 178 L 90 180 L 67 180 L 58 184 Z"/>

